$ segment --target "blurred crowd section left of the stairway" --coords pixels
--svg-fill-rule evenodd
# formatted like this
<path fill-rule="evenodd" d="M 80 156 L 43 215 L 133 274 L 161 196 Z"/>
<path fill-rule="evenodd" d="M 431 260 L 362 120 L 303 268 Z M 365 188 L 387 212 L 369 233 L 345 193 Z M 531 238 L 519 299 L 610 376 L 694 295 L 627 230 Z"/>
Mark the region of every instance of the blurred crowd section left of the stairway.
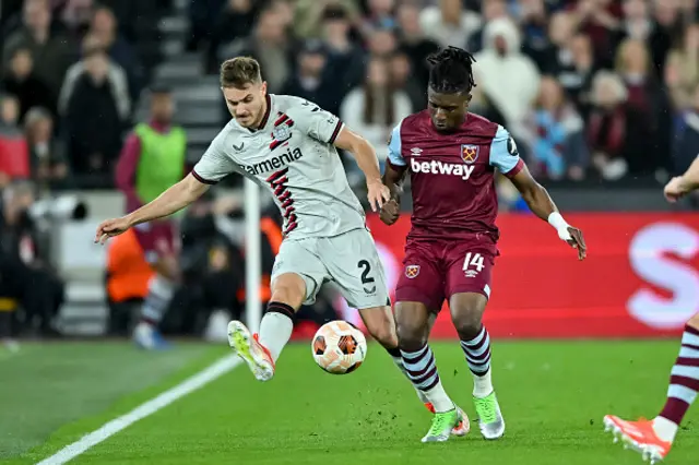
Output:
<path fill-rule="evenodd" d="M 152 31 L 166 5 L 0 2 L 0 188 L 9 178 L 47 189 L 111 184 L 147 78 L 134 44 L 156 39 L 144 22 Z"/>

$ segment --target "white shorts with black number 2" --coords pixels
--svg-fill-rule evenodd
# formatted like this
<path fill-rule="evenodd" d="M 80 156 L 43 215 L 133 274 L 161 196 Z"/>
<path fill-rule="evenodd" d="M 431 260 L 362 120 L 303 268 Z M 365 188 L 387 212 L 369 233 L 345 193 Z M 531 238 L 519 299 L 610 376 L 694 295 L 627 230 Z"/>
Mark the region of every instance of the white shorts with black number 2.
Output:
<path fill-rule="evenodd" d="M 305 305 L 316 301 L 323 283 L 331 283 L 360 309 L 390 305 L 383 265 L 367 229 L 334 237 L 284 239 L 272 269 L 272 281 L 295 273 L 306 283 Z"/>

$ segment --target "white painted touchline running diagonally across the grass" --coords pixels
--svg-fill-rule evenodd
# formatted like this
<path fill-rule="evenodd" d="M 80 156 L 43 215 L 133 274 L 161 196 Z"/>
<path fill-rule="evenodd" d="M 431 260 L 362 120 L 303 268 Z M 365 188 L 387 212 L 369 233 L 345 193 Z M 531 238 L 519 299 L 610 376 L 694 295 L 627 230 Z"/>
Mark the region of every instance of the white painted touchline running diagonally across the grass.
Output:
<path fill-rule="evenodd" d="M 82 437 L 72 444 L 64 446 L 56 454 L 39 462 L 37 465 L 62 465 L 75 458 L 80 454 L 85 453 L 88 449 L 99 444 L 100 442 L 112 437 L 122 429 L 128 428 L 129 426 L 150 415 L 155 414 L 156 412 L 167 407 L 175 401 L 216 380 L 217 378 L 236 368 L 241 363 L 241 361 L 242 360 L 236 356 L 226 356 L 222 358 L 208 368 L 204 368 L 199 373 L 182 381 L 175 388 L 165 391 L 157 397 L 154 397 L 149 402 L 141 404 L 128 414 L 115 418 L 114 420 L 103 425 L 102 428 L 96 429 L 95 431 Z"/>

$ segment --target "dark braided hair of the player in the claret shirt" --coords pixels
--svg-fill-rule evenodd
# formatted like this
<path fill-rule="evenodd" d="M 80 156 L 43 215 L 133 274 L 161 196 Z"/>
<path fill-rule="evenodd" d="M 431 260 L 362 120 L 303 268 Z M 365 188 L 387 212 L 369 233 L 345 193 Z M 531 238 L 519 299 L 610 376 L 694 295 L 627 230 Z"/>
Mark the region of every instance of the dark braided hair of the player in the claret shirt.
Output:
<path fill-rule="evenodd" d="M 429 86 L 433 91 L 453 94 L 471 92 L 476 86 L 473 80 L 473 55 L 466 50 L 449 46 L 427 57 L 433 65 L 429 70 Z"/>

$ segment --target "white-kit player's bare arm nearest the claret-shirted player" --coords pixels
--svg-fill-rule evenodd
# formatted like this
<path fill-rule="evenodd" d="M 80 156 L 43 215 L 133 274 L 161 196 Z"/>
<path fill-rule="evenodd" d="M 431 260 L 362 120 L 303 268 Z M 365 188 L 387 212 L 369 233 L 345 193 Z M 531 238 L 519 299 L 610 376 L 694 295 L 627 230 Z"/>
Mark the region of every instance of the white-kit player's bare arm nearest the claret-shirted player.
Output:
<path fill-rule="evenodd" d="M 388 188 L 381 182 L 381 171 L 379 169 L 379 160 L 376 157 L 376 151 L 363 136 L 343 127 L 335 139 L 334 145 L 343 151 L 351 152 L 359 169 L 367 178 L 367 188 L 369 190 L 368 199 L 371 210 L 378 212 L 384 202 L 391 198 Z"/>

